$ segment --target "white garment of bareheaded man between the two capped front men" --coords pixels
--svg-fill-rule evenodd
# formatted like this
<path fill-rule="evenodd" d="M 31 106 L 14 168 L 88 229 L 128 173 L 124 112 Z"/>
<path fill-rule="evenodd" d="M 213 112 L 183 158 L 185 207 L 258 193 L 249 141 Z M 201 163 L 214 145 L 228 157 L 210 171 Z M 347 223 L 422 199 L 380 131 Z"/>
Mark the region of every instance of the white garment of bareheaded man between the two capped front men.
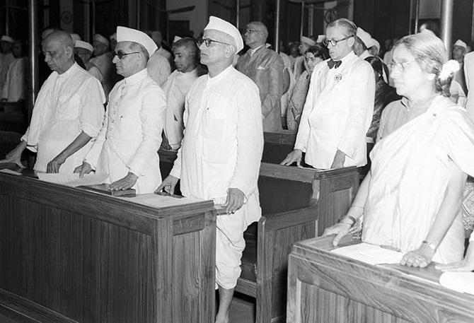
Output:
<path fill-rule="evenodd" d="M 168 104 L 165 134 L 173 149 L 179 148 L 181 140 L 183 140 L 185 97 L 197 78 L 197 68 L 188 73 L 181 73 L 176 70 L 168 77 L 168 81 L 166 81 L 163 88 Z"/>

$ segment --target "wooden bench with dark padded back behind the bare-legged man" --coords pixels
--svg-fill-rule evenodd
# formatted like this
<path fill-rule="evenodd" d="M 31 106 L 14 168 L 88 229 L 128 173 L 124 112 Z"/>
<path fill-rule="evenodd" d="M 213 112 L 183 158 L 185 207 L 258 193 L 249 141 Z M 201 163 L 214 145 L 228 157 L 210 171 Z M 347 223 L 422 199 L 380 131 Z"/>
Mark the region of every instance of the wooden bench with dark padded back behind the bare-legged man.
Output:
<path fill-rule="evenodd" d="M 160 154 L 160 162 L 173 157 Z M 163 172 L 169 165 L 162 168 Z M 256 298 L 256 322 L 285 322 L 287 259 L 294 242 L 321 235 L 349 209 L 359 187 L 357 168 L 314 170 L 260 165 L 262 218 L 244 233 L 236 291 Z"/>

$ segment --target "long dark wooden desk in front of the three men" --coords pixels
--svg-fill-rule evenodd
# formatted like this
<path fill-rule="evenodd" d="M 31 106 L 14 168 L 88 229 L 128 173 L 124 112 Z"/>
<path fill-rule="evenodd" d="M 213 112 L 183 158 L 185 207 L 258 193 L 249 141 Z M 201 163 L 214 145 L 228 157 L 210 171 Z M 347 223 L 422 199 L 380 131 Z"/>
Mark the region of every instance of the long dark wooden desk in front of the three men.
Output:
<path fill-rule="evenodd" d="M 0 307 L 9 292 L 64 322 L 213 322 L 215 221 L 212 201 L 150 207 L 0 172 Z"/>

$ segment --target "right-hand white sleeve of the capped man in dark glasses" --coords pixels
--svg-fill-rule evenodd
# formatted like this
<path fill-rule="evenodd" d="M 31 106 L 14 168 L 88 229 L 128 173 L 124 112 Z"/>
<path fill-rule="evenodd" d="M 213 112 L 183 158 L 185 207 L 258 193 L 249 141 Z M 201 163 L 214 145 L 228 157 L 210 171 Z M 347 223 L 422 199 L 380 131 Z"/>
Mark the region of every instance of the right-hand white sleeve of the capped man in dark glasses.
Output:
<path fill-rule="evenodd" d="M 137 176 L 144 175 L 149 160 L 158 153 L 165 109 L 166 100 L 161 89 L 152 88 L 141 100 L 140 119 L 143 139 L 127 163 L 130 172 Z"/>

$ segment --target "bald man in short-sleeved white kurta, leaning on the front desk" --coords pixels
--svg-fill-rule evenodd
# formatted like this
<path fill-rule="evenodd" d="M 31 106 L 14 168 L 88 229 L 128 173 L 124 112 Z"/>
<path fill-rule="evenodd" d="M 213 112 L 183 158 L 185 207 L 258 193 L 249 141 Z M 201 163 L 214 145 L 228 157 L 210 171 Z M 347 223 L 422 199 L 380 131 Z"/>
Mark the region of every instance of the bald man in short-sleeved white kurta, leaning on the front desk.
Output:
<path fill-rule="evenodd" d="M 6 160 L 21 165 L 28 148 L 37 153 L 34 170 L 73 172 L 100 130 L 105 95 L 100 82 L 74 61 L 69 33 L 47 35 L 42 52 L 52 73 L 38 93 L 30 127 Z"/>

